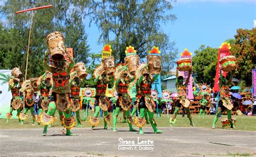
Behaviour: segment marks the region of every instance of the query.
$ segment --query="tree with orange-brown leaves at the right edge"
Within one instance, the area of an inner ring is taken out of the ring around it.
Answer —
[[[252,85],[252,69],[256,64],[256,28],[252,30],[238,29],[231,44],[231,55],[237,58],[237,72],[235,77],[244,80],[248,86]]]

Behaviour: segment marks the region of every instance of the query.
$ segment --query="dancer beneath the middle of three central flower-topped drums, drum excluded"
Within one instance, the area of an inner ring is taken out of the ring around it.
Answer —
[[[132,128],[132,117],[130,116],[130,108],[132,106],[131,97],[128,95],[128,88],[130,83],[130,73],[128,68],[124,64],[120,64],[116,67],[116,72],[114,73],[114,79],[116,84],[116,90],[118,93],[118,100],[116,103],[116,110],[113,116],[113,132],[117,132],[116,124],[117,117],[120,112],[120,107],[123,109],[126,117],[130,119],[127,120],[129,124],[130,131],[136,131]]]

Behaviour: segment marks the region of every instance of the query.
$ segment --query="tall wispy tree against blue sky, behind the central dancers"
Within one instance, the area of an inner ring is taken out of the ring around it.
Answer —
[[[174,42],[161,32],[160,26],[173,22],[171,1],[92,1],[91,19],[101,31],[99,42],[111,44],[117,63],[123,62],[126,46],[132,45],[140,58],[145,58],[153,46],[159,46],[163,56],[163,72],[173,68],[177,54]],[[145,60],[144,60],[145,61]]]

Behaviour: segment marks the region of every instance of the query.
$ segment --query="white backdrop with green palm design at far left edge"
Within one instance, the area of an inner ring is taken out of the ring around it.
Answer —
[[[10,75],[11,70],[1,70],[0,73],[4,75]],[[9,84],[8,82],[2,84],[2,80],[0,80],[0,118],[6,118],[5,114],[10,110],[10,103],[11,103],[11,91],[8,91]],[[12,112],[12,118],[17,118],[17,111]]]

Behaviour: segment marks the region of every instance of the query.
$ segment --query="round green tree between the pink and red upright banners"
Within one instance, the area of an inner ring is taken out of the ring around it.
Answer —
[[[214,85],[214,77],[218,60],[218,48],[201,45],[192,58],[193,73],[196,82]]]

